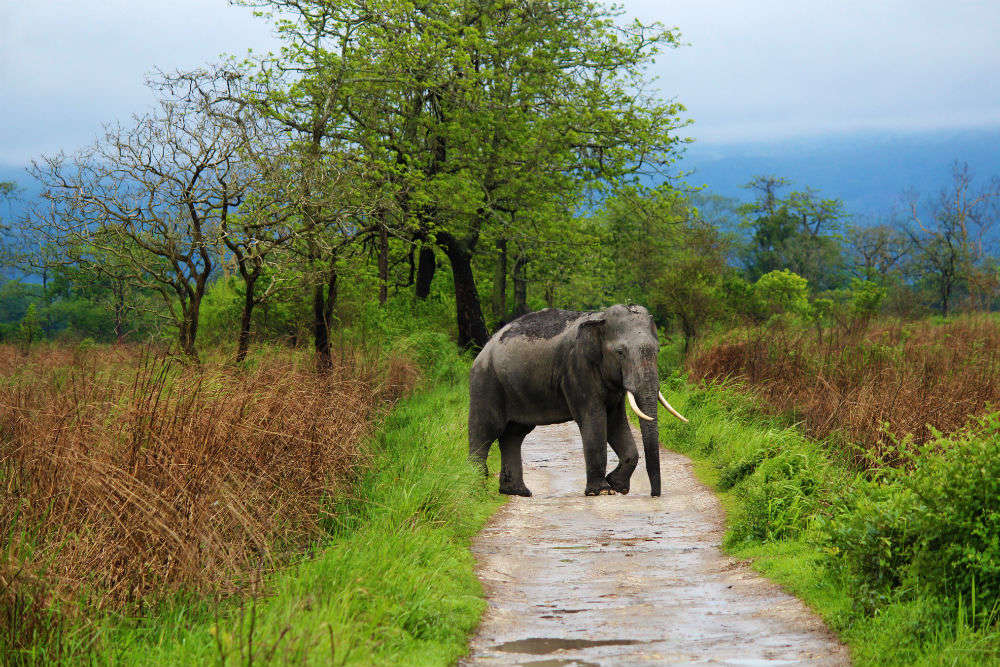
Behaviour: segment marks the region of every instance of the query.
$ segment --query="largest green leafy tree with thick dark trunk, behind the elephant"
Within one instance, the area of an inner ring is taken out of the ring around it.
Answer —
[[[619,27],[586,0],[261,4],[292,17],[290,60],[321,64],[296,86],[345,72],[323,88],[336,135],[365,155],[387,221],[448,258],[462,346],[488,336],[472,267],[492,229],[672,160],[682,108],[636,92],[676,44],[658,25]]]

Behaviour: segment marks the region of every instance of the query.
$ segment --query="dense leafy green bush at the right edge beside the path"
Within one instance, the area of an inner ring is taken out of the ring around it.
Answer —
[[[988,615],[1000,602],[1000,416],[939,437],[913,461],[838,503],[830,552],[872,602],[926,593]]]

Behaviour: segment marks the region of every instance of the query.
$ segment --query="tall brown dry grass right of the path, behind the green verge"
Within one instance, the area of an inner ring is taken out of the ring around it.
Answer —
[[[693,379],[745,383],[815,437],[843,434],[861,445],[859,465],[902,465],[913,448],[900,439],[919,445],[1000,406],[1000,321],[875,322],[822,337],[744,330],[696,350],[687,367]]]

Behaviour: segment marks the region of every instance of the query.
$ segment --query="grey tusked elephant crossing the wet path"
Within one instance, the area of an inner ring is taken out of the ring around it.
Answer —
[[[575,421],[583,438],[588,496],[628,493],[639,453],[625,414],[640,418],[646,473],[660,495],[656,324],[638,305],[600,311],[546,308],[511,321],[476,356],[469,371],[469,458],[486,469],[500,443],[500,493],[530,496],[521,444],[535,426]],[[618,466],[607,472],[607,444]]]

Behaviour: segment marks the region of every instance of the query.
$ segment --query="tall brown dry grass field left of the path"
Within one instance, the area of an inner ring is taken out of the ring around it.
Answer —
[[[319,376],[291,352],[240,370],[0,346],[5,643],[37,643],[57,607],[254,586],[320,534],[373,420],[415,380],[406,359],[353,353]]]

